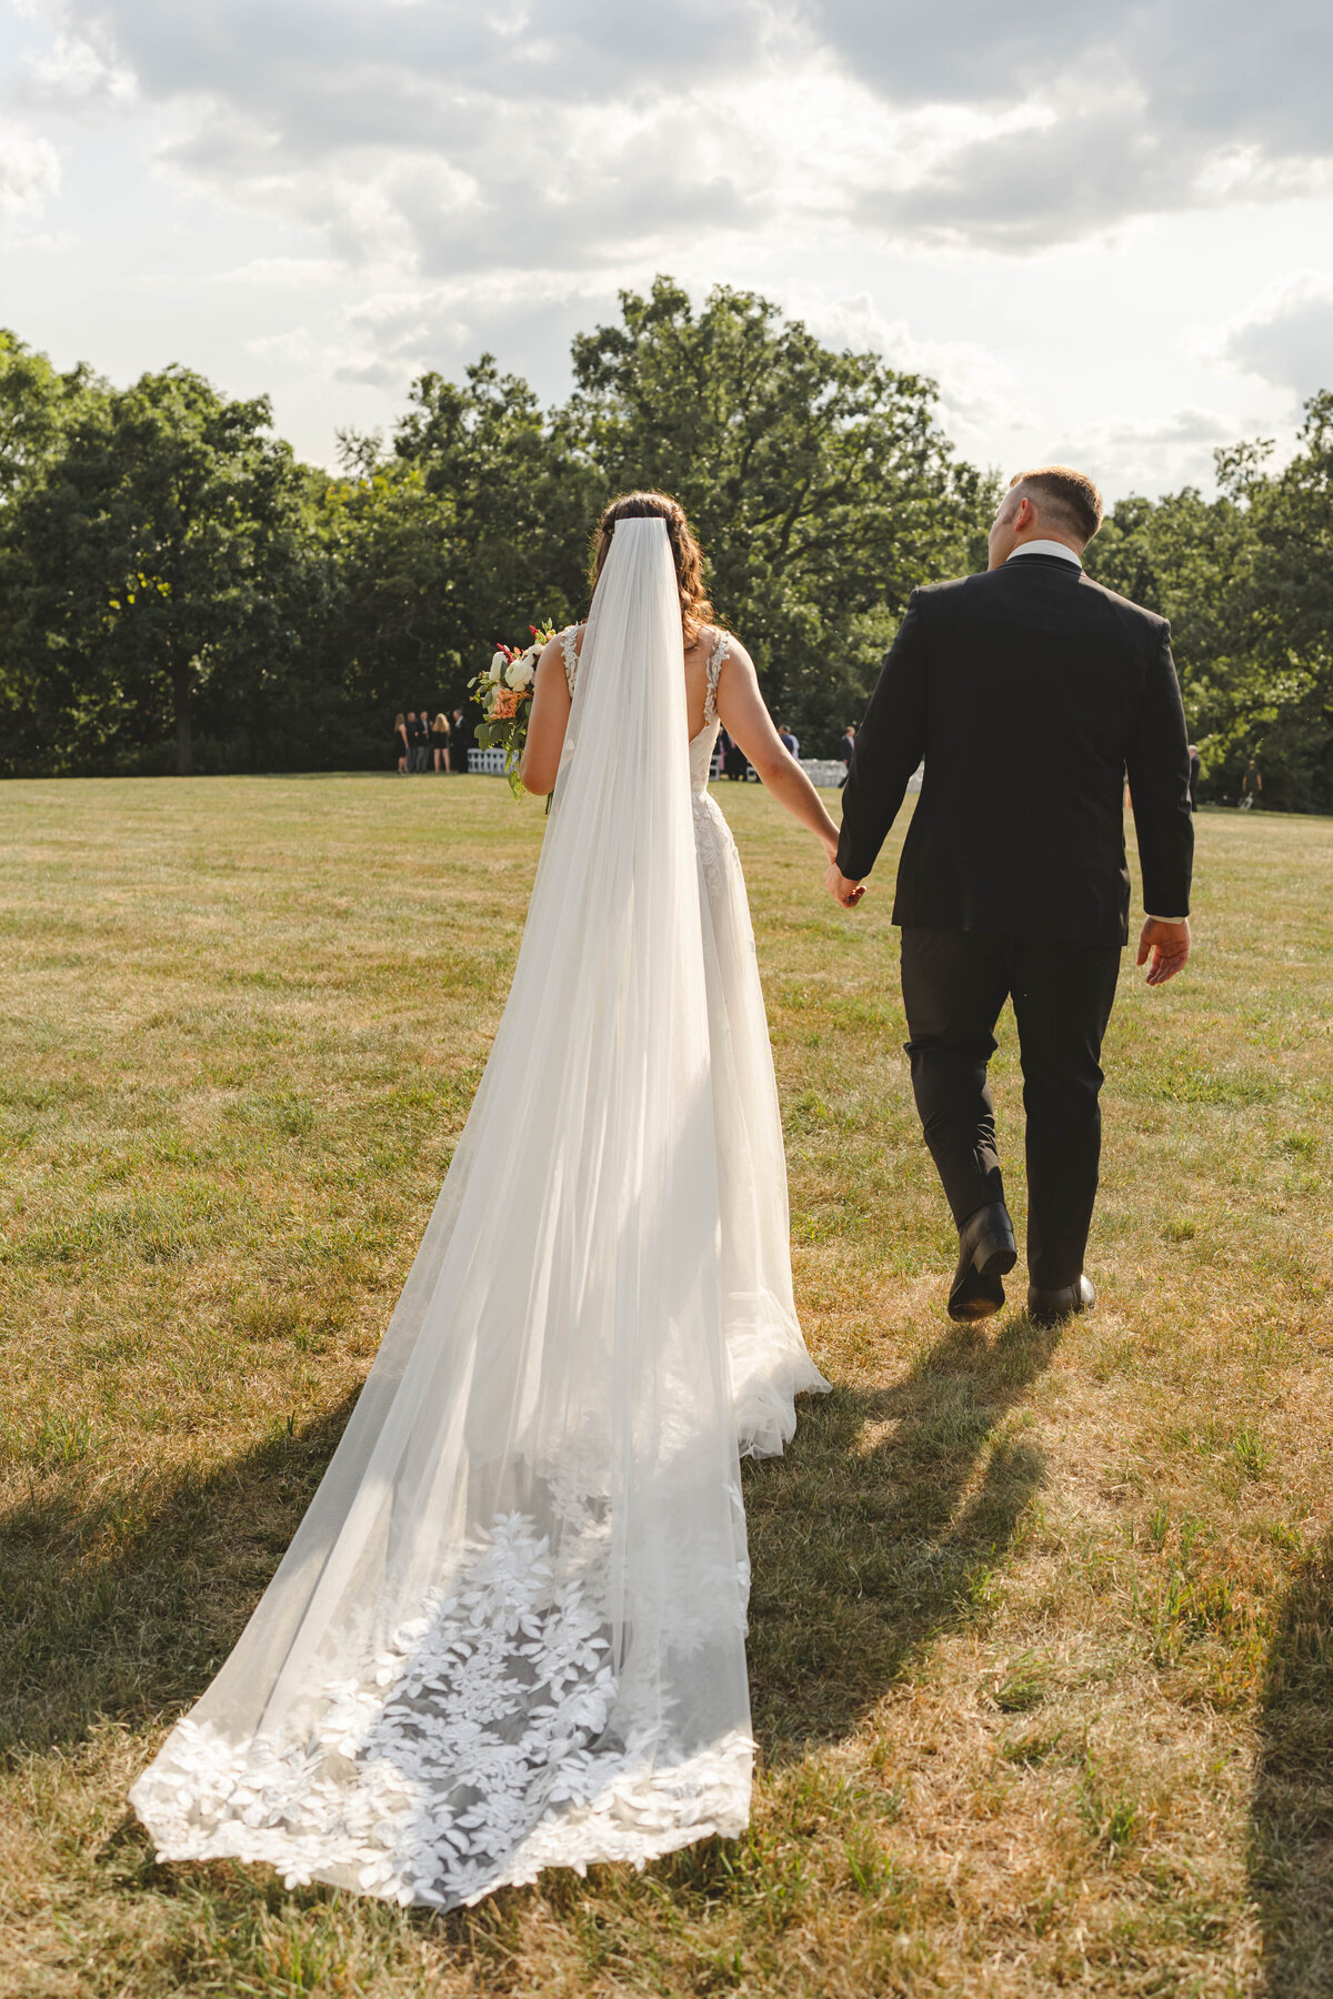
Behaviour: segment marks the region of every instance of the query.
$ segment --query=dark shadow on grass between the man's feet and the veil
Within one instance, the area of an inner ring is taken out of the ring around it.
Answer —
[[[995,1337],[951,1327],[893,1387],[805,1399],[787,1455],[749,1467],[749,1677],[769,1757],[843,1735],[979,1601],[1045,1479],[1033,1443],[995,1431],[1057,1343],[1027,1317]]]

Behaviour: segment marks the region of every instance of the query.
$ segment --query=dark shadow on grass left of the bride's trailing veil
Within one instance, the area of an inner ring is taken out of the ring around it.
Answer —
[[[0,1517],[0,1755],[204,1691],[268,1585],[356,1397],[212,1473],[34,1485]]]

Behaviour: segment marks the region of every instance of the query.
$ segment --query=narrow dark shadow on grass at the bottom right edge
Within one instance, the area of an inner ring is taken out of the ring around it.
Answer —
[[[1279,1611],[1249,1841],[1269,1999],[1333,1993],[1333,1535]]]

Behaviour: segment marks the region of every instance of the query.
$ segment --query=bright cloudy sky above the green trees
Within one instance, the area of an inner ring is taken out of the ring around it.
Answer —
[[[1329,0],[0,0],[0,324],[296,448],[753,286],[1107,492],[1333,386]]]

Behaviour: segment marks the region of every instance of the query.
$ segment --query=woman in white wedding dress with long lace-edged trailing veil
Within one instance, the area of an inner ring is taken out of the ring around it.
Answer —
[[[160,1859],[438,1909],[749,1817],[739,1455],[827,1383],[791,1299],[719,724],[831,856],[681,508],[608,508],[538,676],[510,1001],[356,1411],[130,1797]]]

